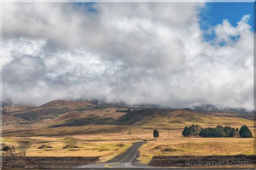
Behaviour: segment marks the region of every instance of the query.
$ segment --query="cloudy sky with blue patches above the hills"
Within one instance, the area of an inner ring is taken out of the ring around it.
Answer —
[[[253,3],[4,3],[3,101],[253,109]]]

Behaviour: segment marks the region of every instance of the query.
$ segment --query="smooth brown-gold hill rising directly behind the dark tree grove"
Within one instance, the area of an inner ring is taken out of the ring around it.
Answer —
[[[203,127],[216,125],[232,125],[234,127],[241,127],[247,125],[253,127],[253,121],[241,118],[230,117],[216,117],[201,115],[191,109],[181,110],[144,110],[133,111],[121,116],[116,122],[125,125],[140,125],[145,127],[158,127],[169,129],[180,129],[186,125],[198,124]]]

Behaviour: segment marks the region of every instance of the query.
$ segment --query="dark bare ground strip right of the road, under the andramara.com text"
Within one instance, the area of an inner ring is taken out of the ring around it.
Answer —
[[[236,156],[153,156],[152,167],[208,167],[208,166],[247,166],[256,163],[254,155]]]

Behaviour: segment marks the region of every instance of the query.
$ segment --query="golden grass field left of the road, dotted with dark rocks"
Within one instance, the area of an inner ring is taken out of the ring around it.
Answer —
[[[139,140],[111,140],[99,137],[90,138],[76,137],[11,137],[3,138],[3,143],[14,145],[16,152],[25,151],[26,156],[100,156],[99,161],[107,161],[122,154],[134,142]],[[46,144],[51,148],[39,149]],[[67,144],[77,148],[63,149]]]

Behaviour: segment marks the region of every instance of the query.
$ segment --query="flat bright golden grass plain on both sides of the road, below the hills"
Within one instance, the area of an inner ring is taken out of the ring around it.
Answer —
[[[109,125],[110,126],[110,125]],[[94,130],[98,126],[91,126]],[[255,138],[185,138],[180,130],[159,129],[160,136],[153,138],[151,127],[116,126],[113,133],[98,133],[73,136],[31,136],[4,137],[3,143],[15,145],[18,151],[25,151],[26,156],[100,156],[100,162],[112,159],[123,153],[132,143],[148,140],[140,147],[142,163],[148,163],[152,156],[207,156],[207,155],[253,155]],[[251,129],[253,130],[253,129]],[[38,149],[42,144],[52,148]],[[63,149],[65,145],[79,148]],[[124,144],[124,147],[118,146]],[[164,148],[175,151],[163,152]]]

